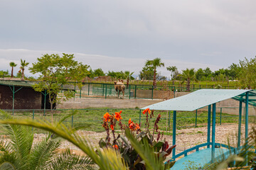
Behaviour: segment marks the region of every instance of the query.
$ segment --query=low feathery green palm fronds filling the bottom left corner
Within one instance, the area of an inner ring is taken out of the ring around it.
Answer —
[[[92,164],[88,157],[72,154],[70,149],[58,152],[60,140],[52,140],[48,133],[33,144],[33,131],[21,125],[5,125],[10,140],[0,140],[0,169],[82,169]]]

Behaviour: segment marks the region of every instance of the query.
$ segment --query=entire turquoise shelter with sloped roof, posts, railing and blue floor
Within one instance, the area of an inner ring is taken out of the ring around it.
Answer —
[[[241,120],[242,120],[242,103],[245,103],[245,140],[248,137],[248,105],[256,106],[256,91],[253,90],[230,90],[230,89],[201,89],[194,91],[191,94],[180,96],[178,98],[171,98],[167,101],[155,103],[150,106],[146,106],[142,109],[150,108],[151,110],[161,111],[174,111],[173,117],[173,145],[176,145],[176,111],[195,111],[199,108],[208,106],[208,127],[207,127],[207,142],[202,145],[197,145],[190,149],[176,154],[176,149],[173,149],[172,159],[174,161],[178,157],[182,157],[176,161],[176,164],[171,169],[184,169],[189,164],[197,164],[204,166],[215,161],[220,154],[227,155],[229,149],[227,145],[215,143],[215,118],[216,118],[216,103],[224,101],[228,98],[233,98],[240,101],[239,108],[239,121],[238,121],[238,147],[232,148],[235,153],[239,152],[241,141]],[[212,120],[212,121],[211,121]],[[211,125],[210,125],[211,124]],[[211,130],[210,130],[211,126]],[[211,141],[210,141],[211,133]],[[246,141],[245,141],[246,142]],[[202,149],[201,147],[206,147]],[[217,148],[215,148],[217,147]],[[201,149],[200,149],[201,148]],[[230,147],[229,147],[230,148]],[[188,155],[188,152],[192,152]]]

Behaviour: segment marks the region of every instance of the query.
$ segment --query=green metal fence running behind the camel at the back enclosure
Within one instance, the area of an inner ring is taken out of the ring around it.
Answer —
[[[74,83],[75,84],[75,83]],[[74,98],[98,97],[98,98],[115,98],[117,91],[114,89],[114,84],[97,84],[83,83],[82,88],[73,84],[63,86],[63,90],[70,89],[75,91]],[[191,84],[190,91],[198,89],[235,89],[235,86],[214,86]],[[63,92],[60,91],[60,94]],[[175,94],[178,91],[188,91],[186,85],[165,85],[165,86],[150,86],[150,85],[125,85],[124,98],[169,98],[170,94]],[[122,92],[119,97],[122,97]]]

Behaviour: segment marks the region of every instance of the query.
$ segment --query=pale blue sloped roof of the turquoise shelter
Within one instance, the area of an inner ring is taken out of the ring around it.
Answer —
[[[195,111],[196,109],[209,106],[219,101],[224,101],[228,98],[233,98],[239,101],[245,101],[245,93],[250,91],[251,96],[255,97],[256,94],[252,90],[235,90],[235,89],[201,89],[194,91],[190,94],[180,96],[177,98],[171,98],[167,101],[162,101],[142,109],[149,108],[151,110],[162,111]],[[254,105],[254,100],[251,100]]]

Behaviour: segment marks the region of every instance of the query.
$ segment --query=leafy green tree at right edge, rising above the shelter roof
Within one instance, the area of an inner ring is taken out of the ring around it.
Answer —
[[[240,60],[240,86],[242,89],[256,89],[256,57],[248,60]]]

